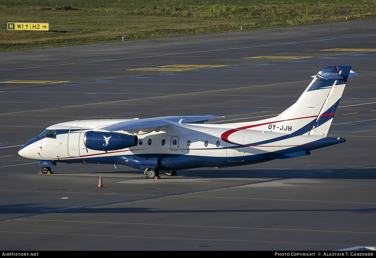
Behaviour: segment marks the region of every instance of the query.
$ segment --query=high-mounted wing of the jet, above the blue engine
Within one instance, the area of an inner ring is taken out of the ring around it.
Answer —
[[[141,128],[151,128],[170,125],[171,122],[175,123],[203,123],[209,119],[223,118],[216,115],[202,115],[202,116],[185,116],[185,117],[153,117],[153,118],[143,118],[134,119],[131,121],[124,121],[109,126],[95,128],[94,131],[97,132],[116,132],[116,131],[127,131],[132,129]]]

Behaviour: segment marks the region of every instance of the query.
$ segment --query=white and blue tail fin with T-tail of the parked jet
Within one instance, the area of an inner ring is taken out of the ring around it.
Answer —
[[[357,75],[351,66],[321,69],[296,103],[274,118],[276,124],[290,134],[326,136],[347,79]]]

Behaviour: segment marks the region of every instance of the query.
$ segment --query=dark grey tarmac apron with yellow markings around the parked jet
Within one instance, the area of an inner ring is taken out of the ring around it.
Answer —
[[[15,32],[17,33],[17,32]],[[0,250],[339,250],[376,243],[376,20],[0,53]],[[224,115],[291,106],[352,65],[312,155],[141,180],[113,165],[18,156],[71,120]],[[102,175],[104,188],[97,188]]]

